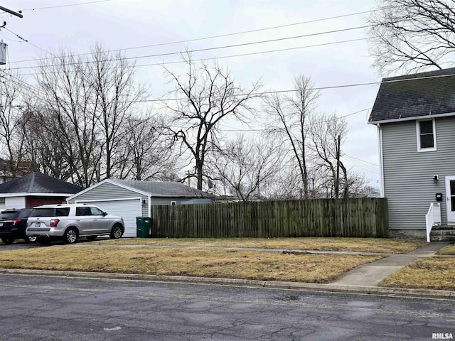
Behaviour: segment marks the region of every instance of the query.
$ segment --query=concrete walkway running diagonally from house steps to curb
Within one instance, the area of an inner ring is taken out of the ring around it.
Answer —
[[[431,242],[407,254],[392,254],[370,264],[359,266],[348,271],[332,284],[341,286],[378,286],[385,278],[398,271],[403,266],[417,259],[434,256],[437,251],[447,247],[451,242]]]

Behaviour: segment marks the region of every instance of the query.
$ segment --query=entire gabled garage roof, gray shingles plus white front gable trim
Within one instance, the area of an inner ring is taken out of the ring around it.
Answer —
[[[72,200],[83,193],[97,188],[103,183],[110,183],[117,185],[127,190],[132,190],[143,195],[150,197],[188,197],[188,198],[210,198],[210,195],[203,190],[196,190],[196,188],[183,185],[183,183],[175,183],[168,181],[148,181],[148,180],[118,180],[118,179],[106,179],[102,180],[96,185],[92,185],[90,188],[82,190],[82,192],[72,195],[68,200]]]

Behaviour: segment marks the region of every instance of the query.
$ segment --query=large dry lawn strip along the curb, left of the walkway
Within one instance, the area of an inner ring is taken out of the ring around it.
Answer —
[[[350,269],[381,258],[223,249],[55,246],[0,252],[0,267],[328,283]]]

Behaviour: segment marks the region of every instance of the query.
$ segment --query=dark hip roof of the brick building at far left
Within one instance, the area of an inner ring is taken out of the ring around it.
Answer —
[[[43,173],[30,173],[0,184],[0,193],[65,193],[73,194],[83,187],[67,183]]]

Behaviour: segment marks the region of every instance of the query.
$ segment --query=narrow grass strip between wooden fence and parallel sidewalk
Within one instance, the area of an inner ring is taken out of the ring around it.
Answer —
[[[425,242],[387,238],[122,238],[97,242],[100,245],[171,245],[191,247],[255,247],[321,251],[359,251],[405,254]]]

